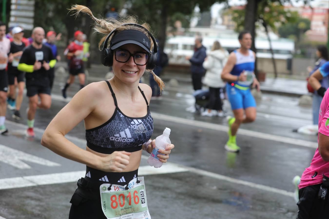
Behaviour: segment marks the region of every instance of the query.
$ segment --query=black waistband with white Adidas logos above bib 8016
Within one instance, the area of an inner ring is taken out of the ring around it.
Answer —
[[[130,172],[104,172],[86,166],[86,176],[84,180],[88,181],[92,187],[99,188],[103,183],[125,186],[136,177],[138,177],[138,169]]]

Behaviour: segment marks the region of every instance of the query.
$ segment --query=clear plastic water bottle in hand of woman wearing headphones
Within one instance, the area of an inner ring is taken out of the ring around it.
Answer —
[[[157,155],[160,154],[158,150],[165,150],[168,144],[171,144],[169,135],[170,128],[165,128],[163,134],[155,139],[155,148],[153,148],[151,155],[147,159],[147,163],[150,166],[154,166],[155,168],[162,166],[162,162],[159,161],[159,158],[157,157]]]

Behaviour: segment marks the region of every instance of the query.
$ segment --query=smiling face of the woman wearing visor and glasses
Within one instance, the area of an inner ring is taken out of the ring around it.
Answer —
[[[128,50],[131,54],[135,54],[136,52],[146,52],[140,46],[135,44],[125,44],[120,46],[120,48]],[[112,67],[114,76],[125,83],[134,83],[139,81],[139,78],[142,77],[146,69],[146,65],[136,65],[132,56],[127,62],[123,63],[116,61],[115,56],[113,55]]]

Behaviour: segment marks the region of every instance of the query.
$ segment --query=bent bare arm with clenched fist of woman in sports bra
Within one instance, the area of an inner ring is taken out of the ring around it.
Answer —
[[[129,164],[129,155],[131,153],[115,151],[106,157],[101,157],[79,148],[64,137],[94,111],[98,101],[102,99],[102,93],[99,91],[101,90],[99,89],[100,83],[87,85],[72,98],[50,122],[43,133],[41,144],[65,158],[86,164],[92,168],[107,172],[122,172]]]

